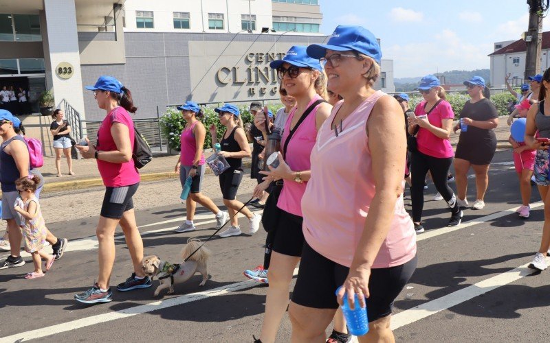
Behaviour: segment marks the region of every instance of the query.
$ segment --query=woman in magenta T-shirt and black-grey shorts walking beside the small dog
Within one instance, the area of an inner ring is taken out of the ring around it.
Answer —
[[[151,287],[151,280],[143,273],[143,241],[135,223],[132,196],[140,185],[140,174],[132,159],[135,130],[129,113],[135,113],[130,90],[111,76],[101,76],[94,86],[98,107],[106,115],[98,130],[97,145],[76,145],[84,158],[96,158],[105,186],[96,236],[98,237],[99,276],[87,291],[75,294],[80,303],[109,303],[112,298],[109,281],[115,262],[115,229],[120,224],[133,263],[133,273],[120,283],[120,292]]]

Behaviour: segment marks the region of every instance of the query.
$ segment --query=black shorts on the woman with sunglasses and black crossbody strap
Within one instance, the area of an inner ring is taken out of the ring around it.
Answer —
[[[273,251],[279,254],[300,257],[304,246],[303,217],[281,210],[275,230]]]

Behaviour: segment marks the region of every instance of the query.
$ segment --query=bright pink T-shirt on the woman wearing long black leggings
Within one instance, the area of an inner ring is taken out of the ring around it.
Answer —
[[[426,109],[424,106],[426,102],[421,102],[415,108],[415,115],[417,117],[426,115]],[[430,110],[430,108],[427,108]],[[451,104],[443,100],[440,102],[428,115],[428,121],[433,126],[441,128],[441,121],[443,119],[454,119],[454,112],[452,112]],[[448,158],[454,156],[452,151],[451,142],[448,139],[441,139],[435,134],[432,134],[428,129],[420,128],[417,134],[418,151],[422,154],[437,158]]]

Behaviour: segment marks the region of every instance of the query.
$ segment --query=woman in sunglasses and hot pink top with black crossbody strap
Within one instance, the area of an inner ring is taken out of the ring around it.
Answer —
[[[306,47],[291,47],[282,60],[274,60],[270,67],[277,70],[278,78],[288,95],[296,99],[281,139],[279,165],[254,189],[261,196],[272,181],[283,181],[276,204],[278,220],[274,224],[274,241],[270,268],[267,273],[270,287],[265,300],[265,316],[260,335],[261,342],[274,342],[288,304],[289,285],[294,268],[300,261],[304,242],[302,232],[302,196],[311,177],[309,156],[314,150],[317,132],[329,116],[331,105],[319,95],[326,94],[326,86],[319,60],[307,56]],[[267,158],[268,156],[266,156]],[[279,185],[278,187],[281,187]],[[270,232],[271,233],[271,232]]]

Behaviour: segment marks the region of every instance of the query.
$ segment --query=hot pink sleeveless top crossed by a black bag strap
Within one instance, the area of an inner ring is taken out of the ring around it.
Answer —
[[[316,95],[311,102],[307,104],[306,108],[309,108],[311,104],[316,102],[318,99],[321,99],[319,95]],[[290,139],[287,146],[287,156],[285,156],[285,162],[289,165],[290,169],[294,171],[309,170],[311,163],[309,162],[309,155],[311,150],[313,150],[315,145],[315,139],[317,137],[317,126],[315,121],[315,115],[317,113],[319,106],[314,108],[314,110],[307,115],[307,118],[300,124],[294,135]],[[283,131],[283,137],[281,138],[281,152],[283,151],[283,146],[287,141],[288,134],[290,133],[290,123],[292,123],[292,118],[294,118],[294,113],[296,113],[296,107],[292,108],[292,111],[289,113],[287,122],[285,123],[285,130]],[[281,191],[281,196],[277,202],[277,207],[293,215],[302,216],[302,196],[305,192],[305,187],[307,182],[294,182],[292,180],[285,180],[283,185],[283,190]]]

